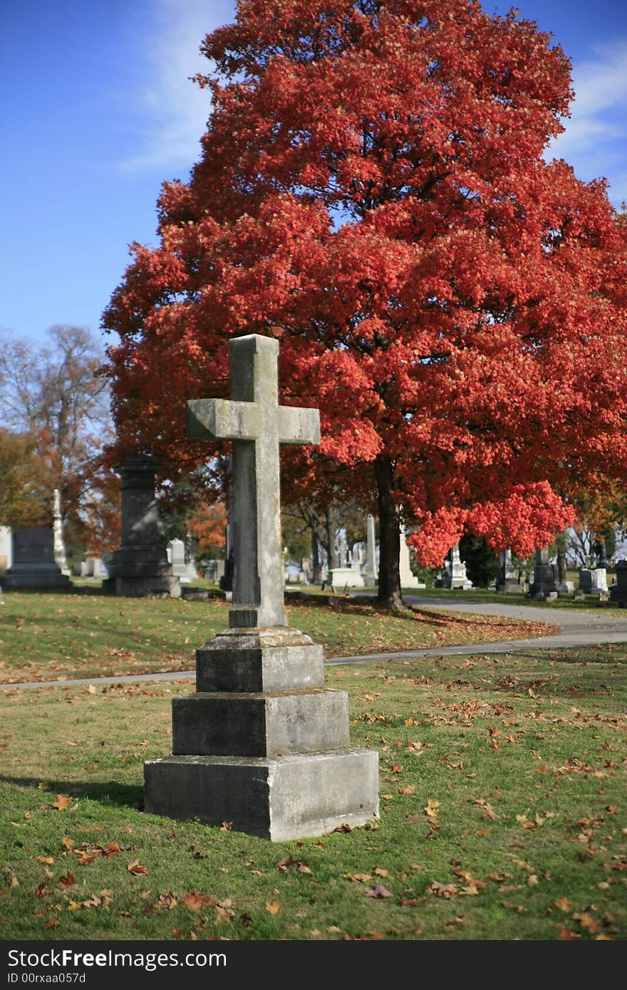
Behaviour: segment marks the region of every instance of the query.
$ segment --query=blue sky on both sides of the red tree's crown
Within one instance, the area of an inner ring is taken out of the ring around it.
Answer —
[[[490,13],[509,3],[485,0]],[[625,0],[518,0],[574,64],[555,153],[627,200]],[[235,0],[2,0],[0,328],[99,333],[132,241],[155,245],[164,179],[186,179],[209,116],[203,36]]]

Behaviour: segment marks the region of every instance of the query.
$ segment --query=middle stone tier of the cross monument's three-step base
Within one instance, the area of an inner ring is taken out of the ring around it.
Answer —
[[[278,756],[350,745],[346,691],[190,694],[172,701],[172,753]]]

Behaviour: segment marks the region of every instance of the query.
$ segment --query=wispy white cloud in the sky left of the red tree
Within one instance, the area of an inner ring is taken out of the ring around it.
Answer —
[[[200,155],[198,143],[211,111],[209,90],[189,76],[209,71],[200,43],[208,32],[233,20],[234,5],[228,0],[147,0],[141,6],[133,11],[143,24],[137,37],[143,39],[144,79],[133,108],[139,121],[137,150],[119,168],[127,173],[188,170]]]

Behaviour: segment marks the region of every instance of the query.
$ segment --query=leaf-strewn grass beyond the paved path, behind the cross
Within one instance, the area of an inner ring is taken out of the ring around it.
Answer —
[[[198,602],[115,598],[95,590],[13,591],[2,601],[4,682],[190,670],[196,648],[229,625],[229,606],[219,598]],[[341,596],[288,601],[287,615],[291,626],[324,645],[327,657],[526,639],[553,628],[432,608],[395,615]]]

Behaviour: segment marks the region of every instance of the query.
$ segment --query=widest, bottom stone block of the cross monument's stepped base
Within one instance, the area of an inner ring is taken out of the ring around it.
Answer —
[[[165,756],[144,764],[145,811],[231,823],[271,841],[321,836],[378,814],[378,754],[370,749],[272,757]]]

